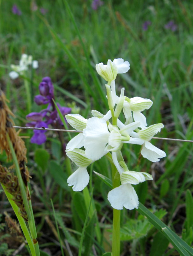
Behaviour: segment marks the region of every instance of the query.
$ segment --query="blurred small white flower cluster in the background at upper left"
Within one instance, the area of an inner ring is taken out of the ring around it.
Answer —
[[[32,55],[27,55],[23,53],[21,55],[19,65],[11,64],[12,71],[9,73],[9,76],[11,77],[11,79],[16,79],[19,75],[23,75],[23,73],[28,70],[29,65],[31,65],[32,68],[38,68],[38,61],[33,60]]]

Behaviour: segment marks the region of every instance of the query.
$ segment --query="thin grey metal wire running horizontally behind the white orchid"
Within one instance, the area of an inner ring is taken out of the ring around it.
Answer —
[[[19,129],[30,129],[30,130],[45,130],[45,131],[55,131],[55,132],[82,132],[82,131],[76,131],[76,130],[65,130],[65,129],[52,129],[52,128],[44,128],[43,126],[38,127],[26,127],[26,126],[13,126],[14,128]],[[173,140],[173,141],[181,141],[181,142],[193,142],[193,140],[180,140],[180,139],[170,139],[170,138],[159,138],[159,137],[153,137],[152,139],[155,140]]]

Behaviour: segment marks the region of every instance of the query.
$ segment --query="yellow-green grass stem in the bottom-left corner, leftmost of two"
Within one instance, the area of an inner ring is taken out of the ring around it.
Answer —
[[[15,215],[16,217],[18,218],[18,221],[19,221],[19,224],[20,224],[20,227],[24,233],[24,236],[27,240],[27,244],[29,245],[29,249],[30,249],[30,252],[32,254],[32,256],[36,256],[38,254],[36,254],[35,252],[35,249],[34,249],[34,244],[33,244],[33,241],[32,241],[32,237],[29,233],[29,230],[26,226],[26,222],[25,220],[23,219],[23,217],[21,217],[19,215],[19,207],[17,206],[17,204],[12,200],[13,196],[6,190],[6,188],[4,187],[3,184],[1,184],[2,188],[4,189],[4,192],[5,192],[5,195],[7,196],[10,204],[11,204],[11,207],[13,208],[13,211],[15,212]]]

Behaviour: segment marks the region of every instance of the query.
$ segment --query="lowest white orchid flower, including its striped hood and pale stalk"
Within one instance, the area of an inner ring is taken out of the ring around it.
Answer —
[[[138,208],[138,196],[131,184],[136,185],[145,180],[152,180],[152,175],[146,172],[129,171],[120,150],[112,152],[112,159],[120,174],[121,185],[108,193],[111,206],[117,210],[123,209],[123,206],[128,210]]]

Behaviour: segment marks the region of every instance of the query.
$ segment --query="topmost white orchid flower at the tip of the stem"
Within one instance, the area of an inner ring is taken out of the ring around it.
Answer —
[[[129,62],[120,58],[113,61],[108,60],[107,65],[104,65],[102,62],[96,64],[98,74],[108,82],[115,80],[117,74],[126,73],[129,69]]]

